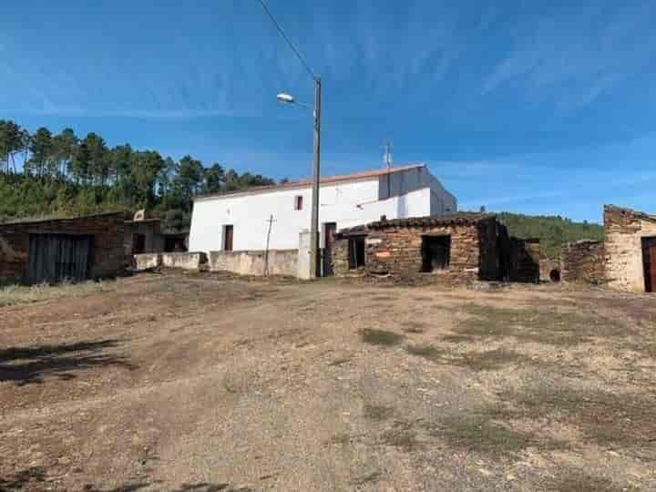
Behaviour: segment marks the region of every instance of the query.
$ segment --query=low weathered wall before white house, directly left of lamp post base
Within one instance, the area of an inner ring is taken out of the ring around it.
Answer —
[[[232,272],[261,276],[265,251],[210,251],[211,272]],[[269,251],[269,274],[295,277],[298,273],[298,250]]]

